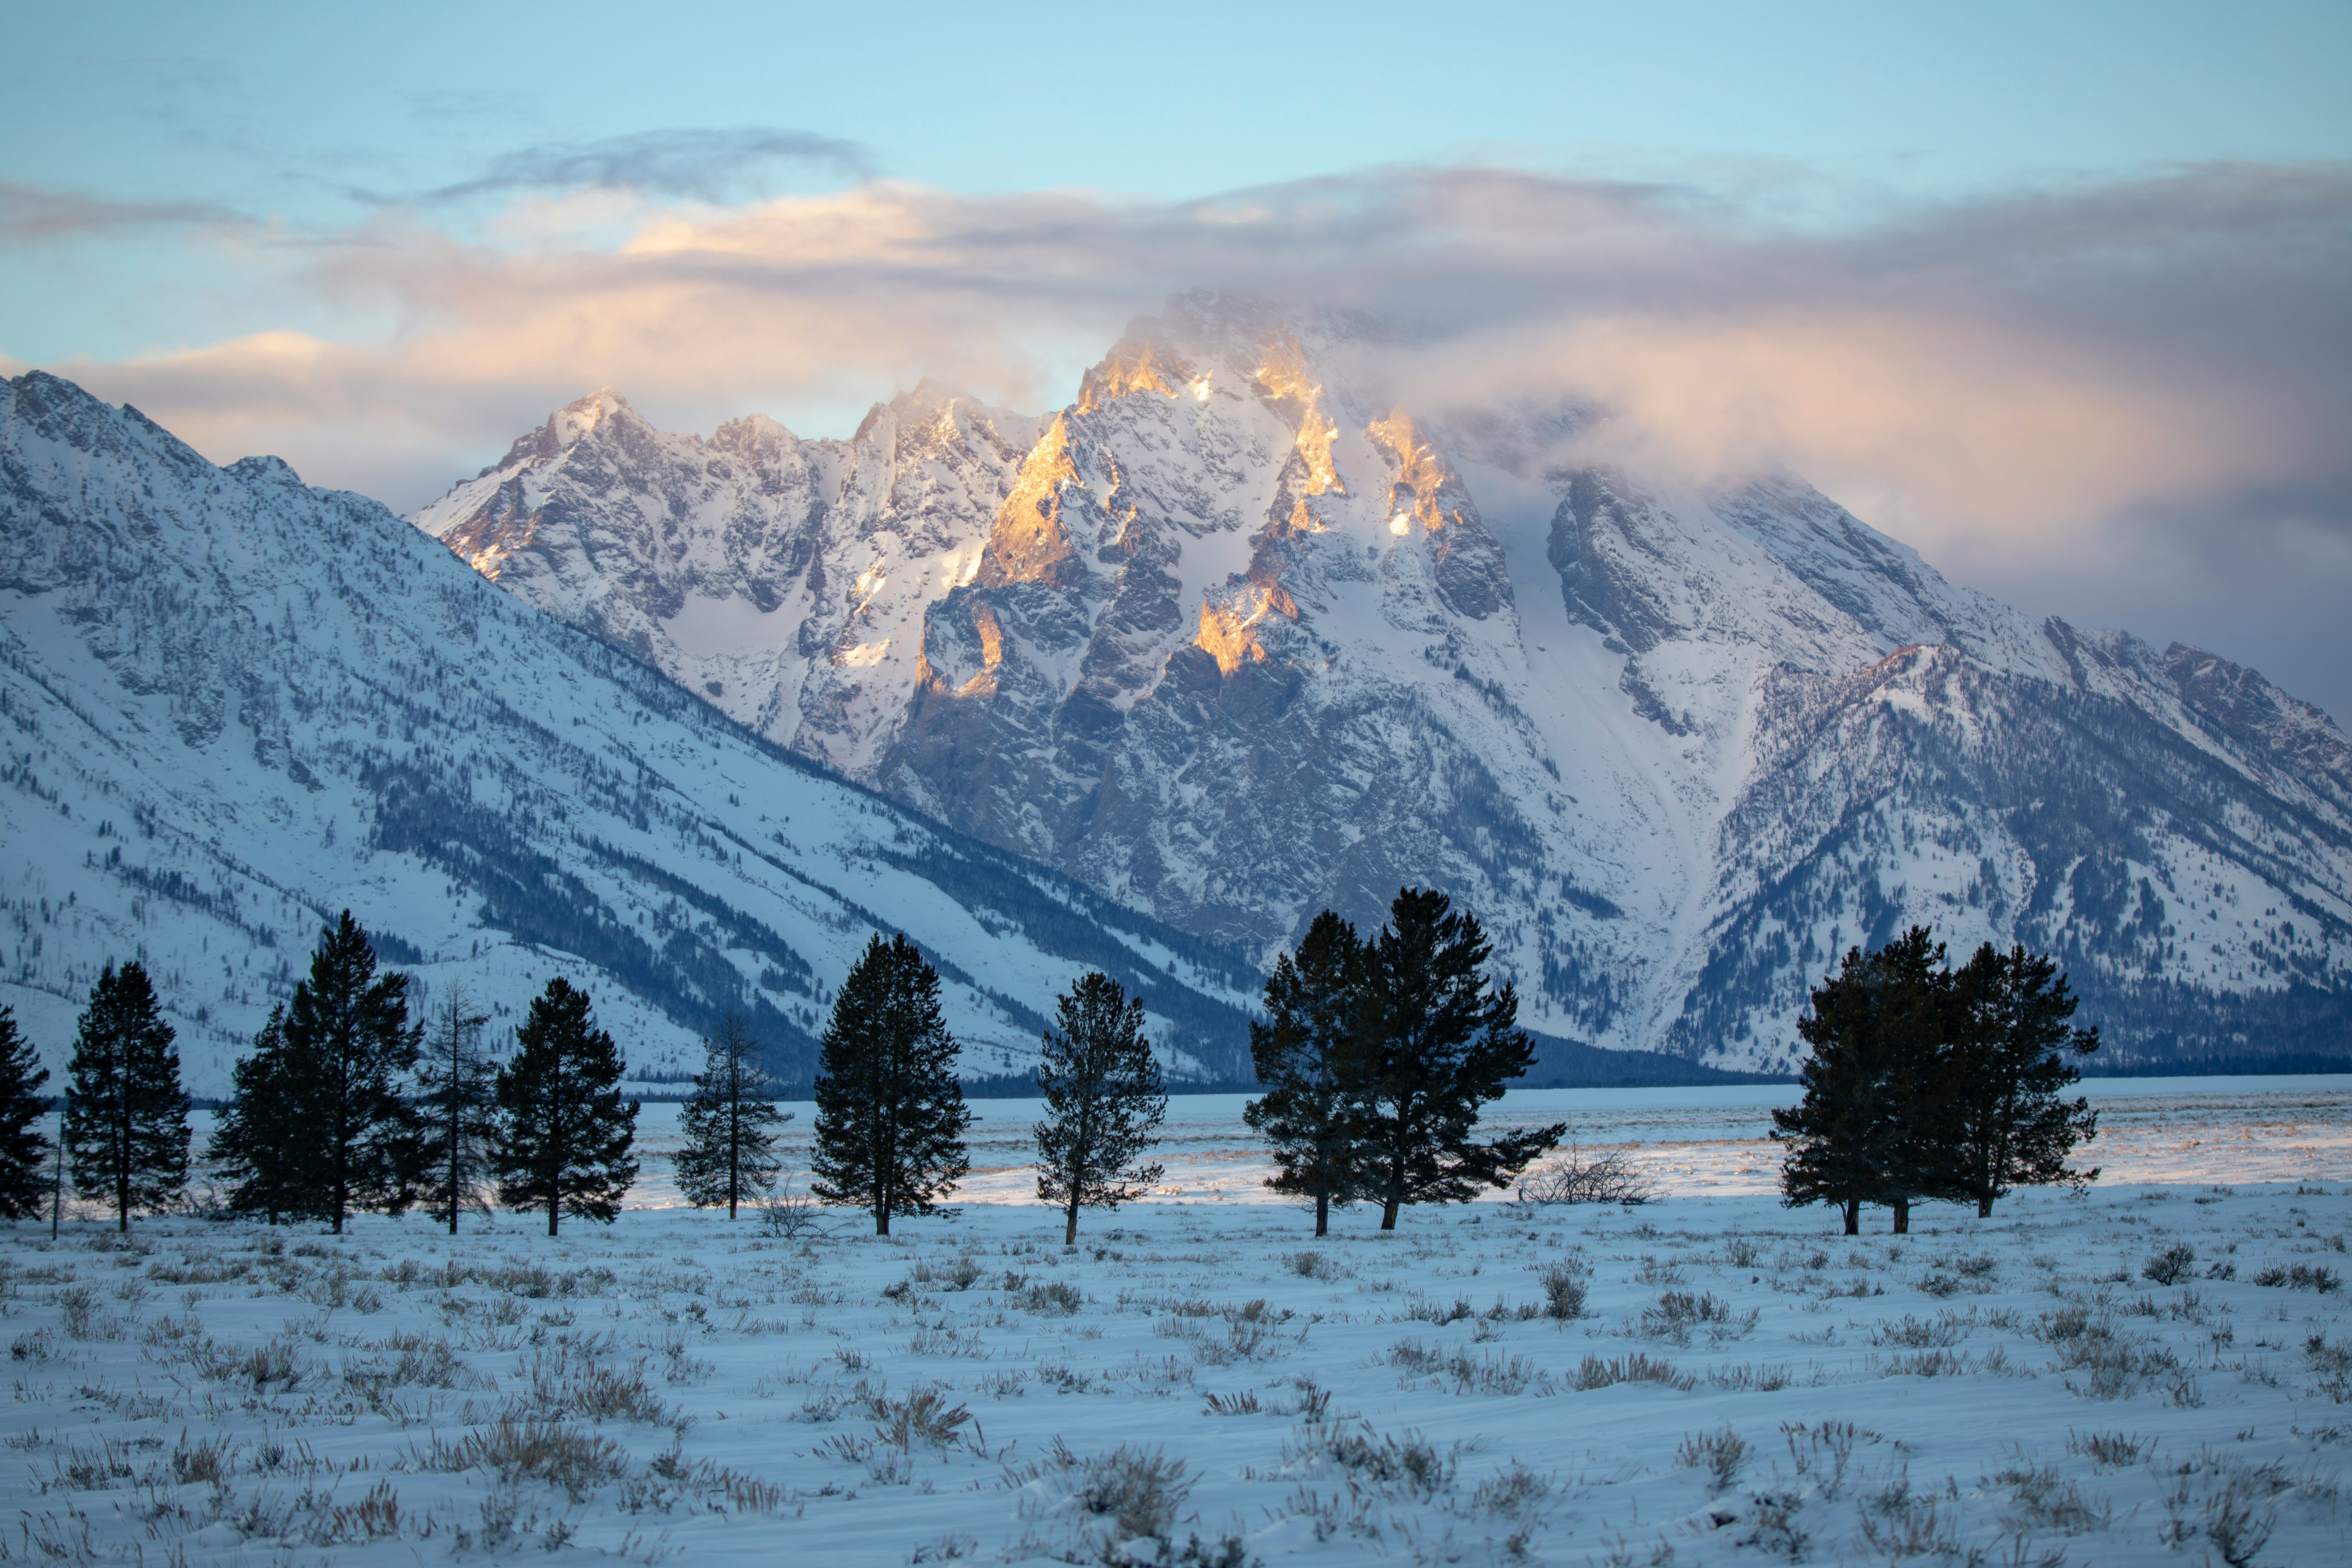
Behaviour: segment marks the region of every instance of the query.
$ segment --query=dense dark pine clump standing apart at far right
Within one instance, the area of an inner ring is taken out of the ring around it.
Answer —
[[[2067,1166],[2098,1135],[2089,1100],[2065,1098],[2070,1058],[2098,1051],[2074,1004],[2056,959],[2018,945],[1985,943],[1957,971],[1926,926],[1846,950],[1797,1020],[1804,1098],[1773,1112],[1783,1199],[1835,1204],[1851,1237],[1863,1204],[1907,1232],[1917,1201],[1985,1218],[2016,1187],[2096,1180]]]

